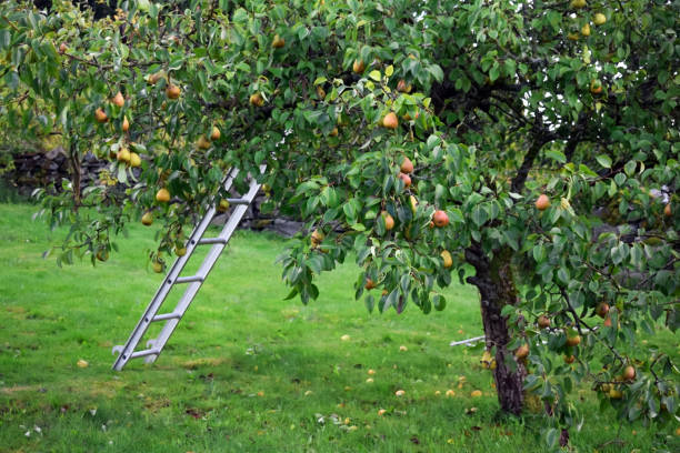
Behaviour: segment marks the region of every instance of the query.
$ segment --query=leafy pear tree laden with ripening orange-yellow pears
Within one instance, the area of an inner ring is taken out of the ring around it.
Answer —
[[[266,164],[264,209],[310,232],[280,260],[291,299],[317,299],[317,275],[349,256],[370,311],[443,310],[459,280],[479,290],[500,409],[540,400],[552,446],[582,423],[584,383],[628,420],[678,420],[677,351],[641,341],[678,328],[677,3],[0,12],[1,121],[59,135],[70,163],[38,193],[71,229],[60,262],[108,256],[144,221],[162,269],[227,198],[224,171]],[[107,165],[83,184],[92,154]]]

